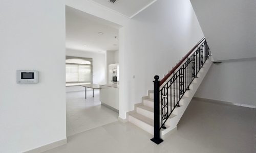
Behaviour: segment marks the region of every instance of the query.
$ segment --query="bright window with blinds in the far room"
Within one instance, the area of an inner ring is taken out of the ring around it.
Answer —
[[[92,59],[66,57],[66,85],[92,83]]]

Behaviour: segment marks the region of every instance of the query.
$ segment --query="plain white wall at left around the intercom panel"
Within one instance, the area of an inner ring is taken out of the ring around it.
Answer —
[[[65,3],[1,1],[0,152],[66,139]],[[16,70],[38,70],[38,84],[16,84]]]

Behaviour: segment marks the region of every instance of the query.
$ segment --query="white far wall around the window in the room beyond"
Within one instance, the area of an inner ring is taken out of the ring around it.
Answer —
[[[105,64],[105,54],[104,53],[94,53],[86,52],[82,50],[74,50],[66,48],[67,56],[74,57],[84,57],[93,59],[93,83],[95,84],[105,84],[106,83],[106,64]],[[83,87],[74,86],[66,87],[66,92],[70,91],[81,91],[84,90]]]

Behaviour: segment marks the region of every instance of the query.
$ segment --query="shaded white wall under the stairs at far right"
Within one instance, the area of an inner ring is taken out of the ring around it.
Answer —
[[[195,97],[256,106],[256,60],[212,64]]]

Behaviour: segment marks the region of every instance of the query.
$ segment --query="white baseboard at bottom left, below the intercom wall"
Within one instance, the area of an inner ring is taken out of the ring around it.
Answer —
[[[40,153],[40,152],[44,152],[44,151],[56,148],[58,146],[64,145],[66,143],[67,143],[67,138],[56,141],[56,142],[53,142],[53,143],[50,143],[50,144],[47,144],[47,145],[44,145],[44,146],[41,146],[41,147],[38,147],[38,148],[34,148],[32,150],[29,150],[29,151],[25,151],[24,153]]]

